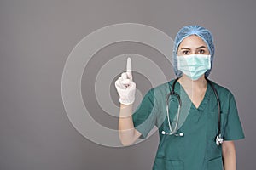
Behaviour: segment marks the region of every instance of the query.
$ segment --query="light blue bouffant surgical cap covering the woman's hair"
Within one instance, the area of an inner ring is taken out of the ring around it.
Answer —
[[[182,71],[177,70],[177,48],[178,48],[179,44],[183,41],[184,38],[189,37],[191,35],[196,35],[198,37],[201,37],[201,39],[204,42],[206,42],[207,47],[210,51],[211,69],[205,73],[205,77],[208,77],[212,70],[212,60],[213,60],[213,56],[214,56],[214,45],[213,45],[212,33],[202,26],[183,26],[183,28],[177,32],[177,36],[175,37],[174,44],[173,44],[173,51],[172,51],[172,63],[173,63],[174,72],[177,77],[182,76]]]

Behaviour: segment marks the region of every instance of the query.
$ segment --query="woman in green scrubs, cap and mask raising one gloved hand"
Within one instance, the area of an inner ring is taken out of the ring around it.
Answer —
[[[201,26],[184,26],[178,31],[173,46],[177,81],[150,89],[134,114],[136,84],[132,82],[131,71],[123,73],[115,82],[120,97],[122,144],[145,139],[154,126],[159,128],[160,144],[153,169],[220,170],[224,167],[236,170],[233,140],[243,139],[244,133],[233,94],[207,79],[213,56],[211,32]],[[177,96],[166,98],[174,82],[174,92],[181,99],[180,110]]]

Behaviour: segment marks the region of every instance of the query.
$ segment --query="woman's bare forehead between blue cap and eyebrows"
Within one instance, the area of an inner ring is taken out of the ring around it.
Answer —
[[[191,35],[183,39],[183,41],[179,44],[178,49],[186,47],[186,48],[197,48],[200,46],[207,47],[207,43],[196,35]]]

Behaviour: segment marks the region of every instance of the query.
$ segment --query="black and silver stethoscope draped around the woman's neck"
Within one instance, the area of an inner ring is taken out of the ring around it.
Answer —
[[[168,126],[169,126],[169,129],[170,129],[170,133],[166,133],[164,130],[162,131],[162,134],[166,134],[166,135],[175,135],[175,136],[179,136],[179,137],[183,137],[184,136],[184,133],[177,133],[177,124],[178,124],[178,120],[179,120],[179,116],[180,116],[180,109],[181,109],[181,106],[182,106],[182,101],[180,99],[180,96],[179,94],[177,94],[175,91],[174,91],[174,88],[175,88],[175,84],[178,80],[178,77],[174,80],[173,82],[173,85],[172,85],[172,91],[167,94],[166,96],[166,113],[167,113],[167,120],[168,120]],[[220,122],[220,102],[219,102],[219,99],[218,99],[218,94],[217,94],[217,91],[216,89],[213,87],[212,85],[212,82],[209,81],[207,78],[206,78],[207,82],[210,83],[212,89],[213,89],[213,92],[215,94],[215,97],[217,99],[217,103],[218,103],[218,135],[216,137],[216,144],[219,145],[219,144],[222,144],[224,139],[222,138],[222,135],[221,135],[221,122]],[[178,108],[177,108],[177,118],[176,118],[176,122],[175,122],[175,126],[174,128],[172,128],[171,126],[171,121],[170,121],[170,117],[169,117],[169,98],[174,95],[177,97],[177,100],[178,100]]]

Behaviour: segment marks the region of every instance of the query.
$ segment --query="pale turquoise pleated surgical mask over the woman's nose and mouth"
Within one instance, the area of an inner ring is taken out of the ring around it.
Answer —
[[[177,70],[182,71],[192,80],[199,79],[209,69],[211,69],[211,55],[191,54],[177,56]]]

